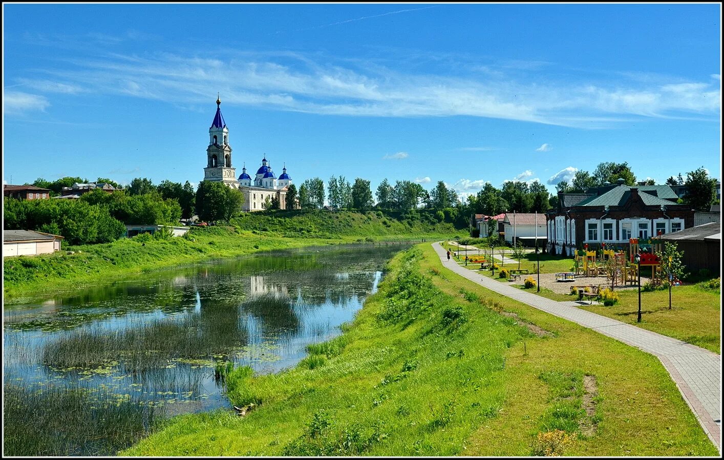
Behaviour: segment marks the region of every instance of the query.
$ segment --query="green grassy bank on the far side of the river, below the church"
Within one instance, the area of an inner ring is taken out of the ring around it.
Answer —
[[[203,259],[334,243],[419,241],[441,233],[449,237],[455,232],[451,224],[430,224],[420,214],[382,215],[380,218],[377,212],[321,211],[253,213],[233,219],[232,227],[193,227],[190,238],[159,240],[142,235],[113,243],[64,246],[63,251],[54,254],[12,257],[4,260],[4,302],[22,303],[49,293]],[[319,228],[326,231],[317,231]],[[75,254],[67,254],[68,251]]]

